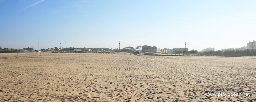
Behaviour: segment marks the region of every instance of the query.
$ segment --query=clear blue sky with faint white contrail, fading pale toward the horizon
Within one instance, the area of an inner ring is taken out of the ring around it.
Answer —
[[[0,0],[2,48],[239,48],[256,40],[255,0]]]

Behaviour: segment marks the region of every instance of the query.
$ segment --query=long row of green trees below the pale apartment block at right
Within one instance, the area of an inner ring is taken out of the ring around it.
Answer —
[[[245,49],[245,50],[218,50],[218,51],[204,51],[205,54],[245,54],[245,53],[256,53],[256,49]]]

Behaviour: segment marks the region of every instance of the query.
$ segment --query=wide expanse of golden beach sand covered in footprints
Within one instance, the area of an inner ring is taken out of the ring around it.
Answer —
[[[0,53],[0,79],[0,101],[256,101],[256,57]]]

